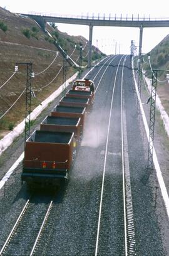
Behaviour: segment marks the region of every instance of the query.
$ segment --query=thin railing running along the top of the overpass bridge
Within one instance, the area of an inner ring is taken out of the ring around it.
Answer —
[[[137,17],[134,17],[133,15],[128,17],[127,15],[125,17],[122,16],[100,16],[98,15],[68,15],[68,14],[54,14],[54,13],[37,13],[37,12],[29,12],[25,13],[25,15],[33,15],[33,16],[46,16],[46,17],[51,17],[51,18],[62,18],[62,19],[95,19],[95,20],[106,20],[106,21],[169,21],[169,18],[151,18],[149,17],[140,17],[139,14]]]

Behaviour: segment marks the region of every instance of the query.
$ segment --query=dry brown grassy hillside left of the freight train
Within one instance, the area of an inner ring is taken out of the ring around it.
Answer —
[[[33,63],[35,78],[33,78],[32,87],[36,98],[32,100],[32,110],[63,82],[63,72],[61,70],[63,57],[61,53],[56,57],[58,48],[53,44],[54,40],[57,40],[59,45],[77,63],[79,61],[79,44],[81,43],[84,48],[83,65],[87,64],[88,41],[82,36],[69,36],[66,33],[62,33],[54,24],[51,25],[48,25],[47,29],[54,36],[54,39],[45,33],[33,19],[10,13],[0,7],[0,87],[13,75],[16,62]],[[76,49],[74,49],[74,45],[76,45]],[[97,56],[100,58],[101,55],[103,54],[100,51],[96,55],[95,47],[93,46],[93,60]],[[56,60],[54,60],[55,58]],[[70,77],[76,71],[77,68],[68,65],[66,77]],[[38,75],[38,73],[41,74]],[[58,76],[56,77],[57,74]],[[51,83],[52,80],[53,82]],[[26,66],[19,65],[19,71],[0,89],[0,117],[18,99],[25,87]],[[37,90],[38,88],[41,89]],[[0,119],[0,137],[23,120],[24,115],[25,94],[8,114],[3,119]]]

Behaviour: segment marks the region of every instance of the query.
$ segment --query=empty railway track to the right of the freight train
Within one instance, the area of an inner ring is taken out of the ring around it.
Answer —
[[[116,69],[115,75],[115,82],[113,85],[113,92],[111,97],[111,106],[110,106],[110,116],[108,122],[108,132],[106,137],[106,149],[105,149],[105,160],[104,160],[104,167],[103,167],[103,178],[101,184],[101,196],[100,196],[100,208],[99,208],[99,216],[98,216],[98,229],[97,229],[97,236],[96,236],[96,246],[95,246],[95,256],[101,255],[103,253],[102,243],[104,243],[104,234],[100,235],[100,233],[106,232],[106,228],[104,230],[104,215],[106,215],[106,211],[104,209],[104,203],[106,201],[106,188],[105,188],[105,179],[106,179],[106,171],[107,169],[107,162],[108,162],[108,154],[110,154],[111,150],[109,144],[110,142],[110,131],[112,131],[112,118],[113,118],[113,111],[115,111],[115,104],[114,104],[114,97],[115,97],[115,90],[116,90],[116,78],[118,76],[118,72],[120,73],[120,63],[123,60],[123,67],[121,70],[121,150],[119,149],[119,153],[112,153],[121,156],[121,180],[119,184],[123,186],[123,198],[121,196],[121,206],[120,209],[116,211],[116,214],[120,216],[121,223],[120,227],[123,229],[123,234],[119,235],[118,243],[121,243],[121,251],[125,256],[127,255],[136,255],[136,242],[135,242],[135,226],[133,220],[133,204],[132,204],[132,196],[131,196],[131,184],[130,184],[130,168],[129,168],[129,160],[128,160],[128,142],[127,142],[127,132],[126,132],[126,116],[125,116],[125,102],[123,100],[123,72],[124,72],[124,65],[126,61],[126,57],[122,56],[118,67]],[[116,120],[118,122],[118,119]],[[113,130],[114,131],[114,130]],[[117,131],[115,131],[117,132]],[[117,133],[118,134],[118,133]],[[120,137],[119,137],[120,139]],[[115,150],[115,149],[113,149]],[[119,161],[120,163],[120,161]],[[112,183],[113,184],[113,183]],[[123,200],[123,202],[122,202]],[[103,208],[103,209],[102,209]],[[122,210],[123,209],[123,210]],[[111,213],[110,213],[111,214]],[[107,225],[107,223],[106,223]],[[105,226],[106,226],[105,225]],[[121,231],[120,231],[121,232]],[[120,233],[119,232],[119,233]],[[103,239],[103,241],[102,241]],[[113,244],[113,243],[112,243]],[[111,245],[113,247],[113,245]],[[115,253],[112,252],[112,255]],[[116,252],[117,253],[117,252]]]

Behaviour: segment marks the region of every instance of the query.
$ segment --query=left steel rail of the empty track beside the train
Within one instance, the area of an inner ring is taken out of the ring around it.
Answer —
[[[125,55],[121,56],[120,61],[118,63],[118,67],[117,67],[116,75],[115,75],[114,86],[113,86],[112,97],[111,97],[110,116],[109,116],[109,121],[108,121],[108,132],[107,132],[107,138],[106,138],[105,160],[104,160],[104,168],[103,168],[103,178],[102,178],[102,184],[101,184],[100,210],[99,210],[99,217],[98,217],[98,229],[97,229],[97,235],[96,235],[95,256],[98,255],[98,242],[99,242],[99,236],[100,236],[100,222],[101,222],[101,208],[102,208],[102,203],[103,203],[103,189],[104,189],[104,184],[105,184],[106,158],[107,158],[107,153],[108,153],[108,139],[109,139],[109,134],[110,134],[110,122],[111,122],[111,113],[112,113],[112,107],[113,107],[113,99],[114,99],[114,94],[115,94],[116,78],[117,78],[117,74],[118,74],[118,69],[120,67],[120,62],[124,56]]]

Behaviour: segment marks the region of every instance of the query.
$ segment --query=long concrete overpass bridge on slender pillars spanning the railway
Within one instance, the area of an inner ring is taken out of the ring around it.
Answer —
[[[46,23],[64,23],[64,24],[79,24],[89,26],[89,46],[90,51],[88,55],[88,67],[91,67],[91,46],[92,46],[92,35],[93,26],[121,26],[128,28],[139,28],[140,29],[140,40],[139,40],[139,56],[141,56],[142,41],[143,41],[143,28],[161,28],[169,27],[169,18],[140,18],[138,15],[136,18],[126,16],[122,17],[106,17],[105,15],[98,16],[71,16],[71,15],[59,15],[49,13],[24,13],[22,15],[29,16],[35,19],[44,30],[46,30]]]

